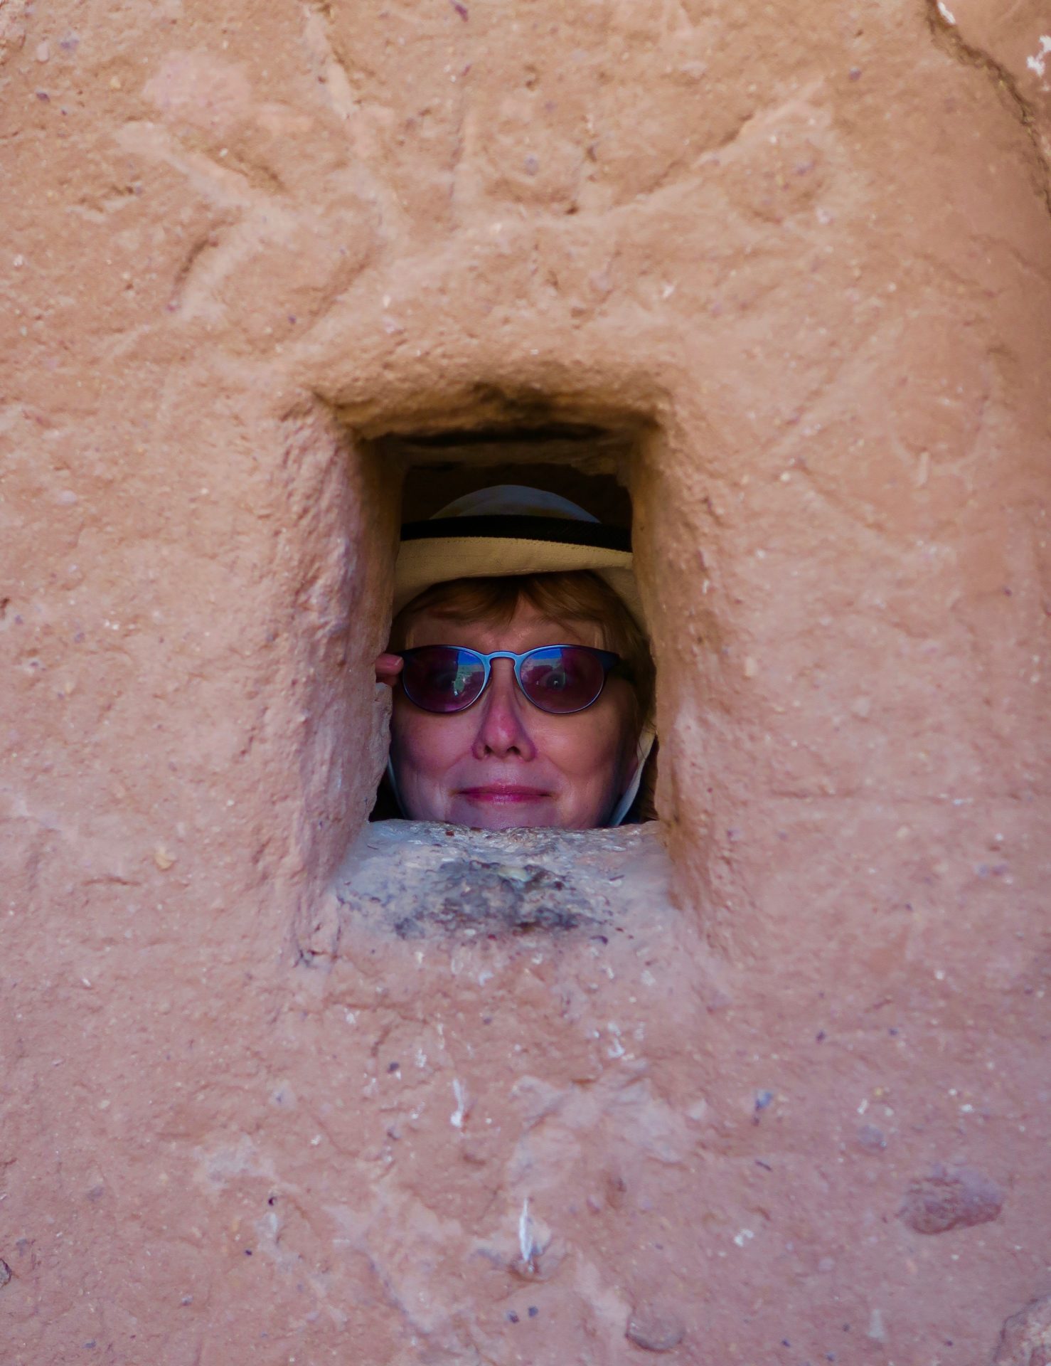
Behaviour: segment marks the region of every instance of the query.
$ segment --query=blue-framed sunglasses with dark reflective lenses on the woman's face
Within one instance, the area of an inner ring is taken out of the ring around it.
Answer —
[[[493,660],[513,660],[515,679],[534,706],[554,716],[583,712],[598,702],[606,678],[620,663],[610,650],[588,645],[541,645],[524,654],[464,650],[459,645],[420,645],[401,650],[401,687],[424,712],[465,712],[485,693]]]

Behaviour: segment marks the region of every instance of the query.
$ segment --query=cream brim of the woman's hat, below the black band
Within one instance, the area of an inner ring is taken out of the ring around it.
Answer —
[[[528,537],[442,534],[403,541],[394,567],[394,616],[426,589],[450,579],[583,570],[603,578],[646,631],[631,550]]]

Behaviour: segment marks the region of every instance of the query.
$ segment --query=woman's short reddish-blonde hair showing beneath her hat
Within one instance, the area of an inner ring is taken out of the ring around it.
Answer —
[[[654,661],[650,646],[622,598],[591,570],[561,574],[509,574],[479,579],[450,579],[418,593],[401,608],[390,627],[390,649],[405,647],[409,627],[423,612],[450,622],[506,626],[520,602],[528,602],[553,622],[588,622],[599,627],[602,646],[620,654],[621,676],[635,694],[636,725],[654,705]]]

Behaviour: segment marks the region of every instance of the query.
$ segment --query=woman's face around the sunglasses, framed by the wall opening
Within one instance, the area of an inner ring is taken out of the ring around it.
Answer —
[[[520,602],[506,626],[420,613],[405,647],[420,645],[521,654],[539,645],[602,649],[603,641],[596,624],[551,622]],[[602,825],[635,770],[629,684],[610,678],[590,708],[553,716],[523,695],[510,660],[493,660],[491,669],[482,697],[452,714],[423,712],[394,688],[390,758],[405,816],[486,831]]]

